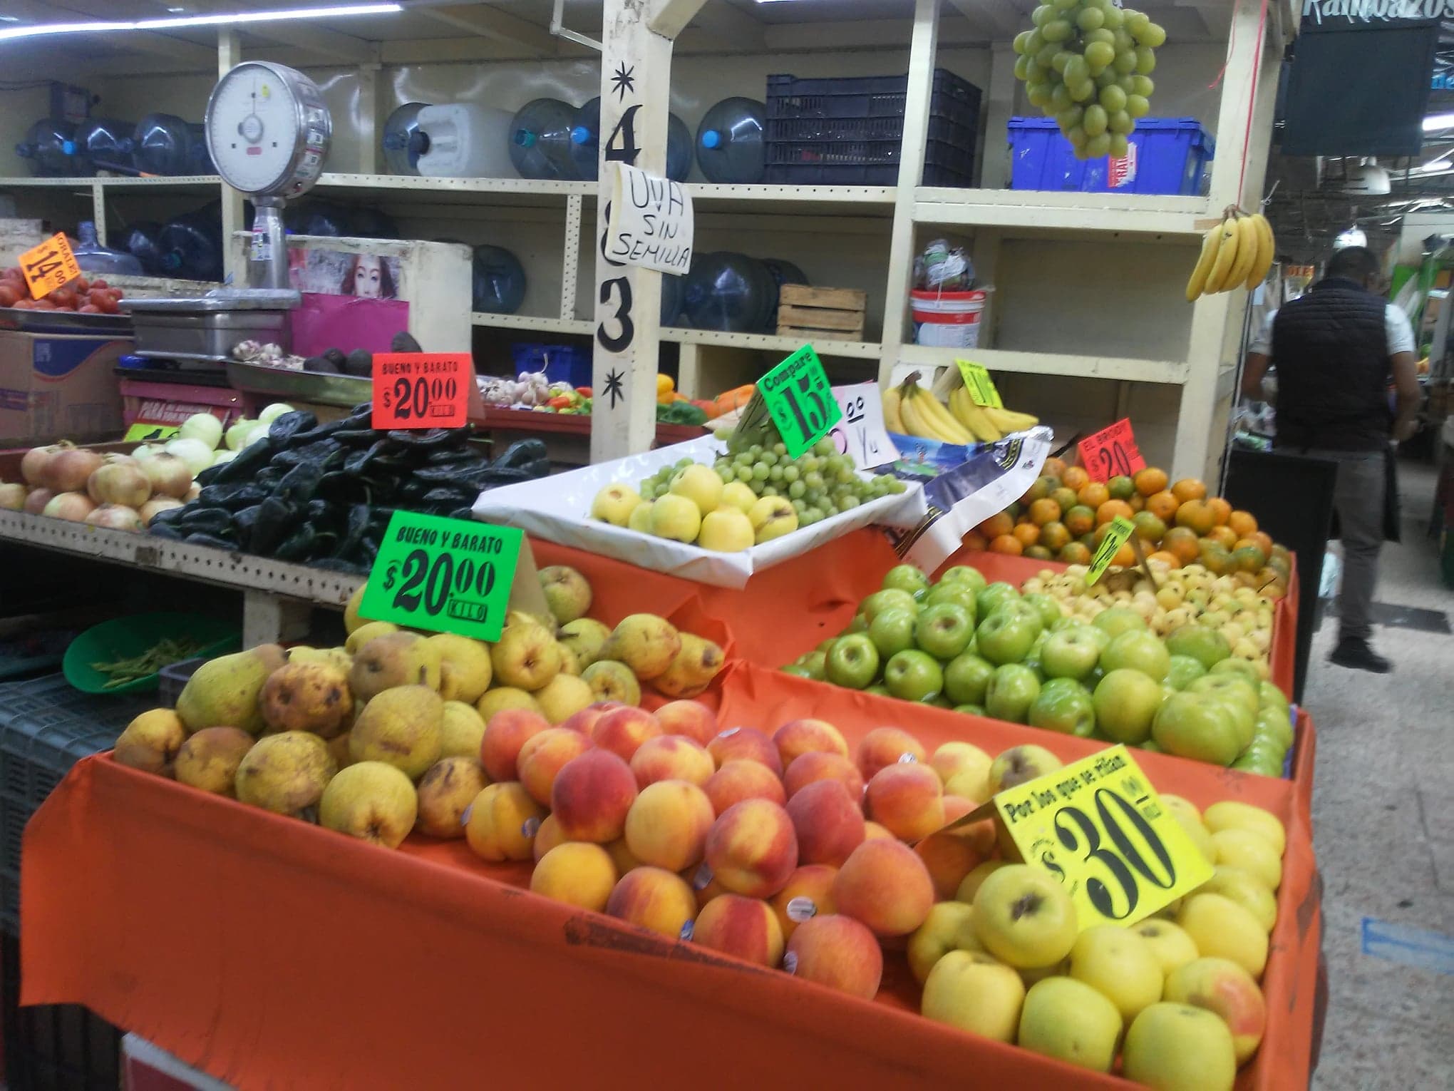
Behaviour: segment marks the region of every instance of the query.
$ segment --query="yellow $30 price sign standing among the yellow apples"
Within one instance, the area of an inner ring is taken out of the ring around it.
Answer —
[[[1136,924],[1211,879],[1125,746],[1006,788],[995,807],[1025,863],[1064,883],[1080,928]]]

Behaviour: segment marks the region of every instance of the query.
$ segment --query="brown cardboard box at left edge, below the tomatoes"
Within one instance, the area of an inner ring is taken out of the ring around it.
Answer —
[[[0,447],[121,433],[116,359],[131,340],[0,330]]]

